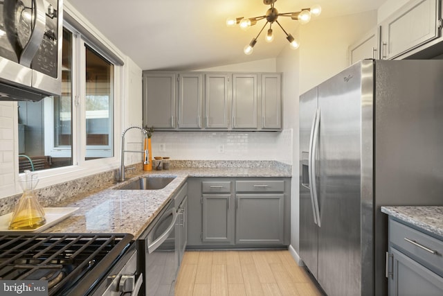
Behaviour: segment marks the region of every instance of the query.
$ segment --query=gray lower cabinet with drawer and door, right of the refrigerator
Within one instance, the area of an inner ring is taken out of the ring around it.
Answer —
[[[389,295],[443,295],[443,241],[390,218]]]

